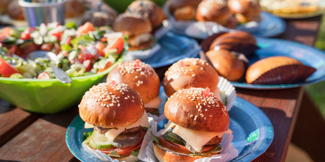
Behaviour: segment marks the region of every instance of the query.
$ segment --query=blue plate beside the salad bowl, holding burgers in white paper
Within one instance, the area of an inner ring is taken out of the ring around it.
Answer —
[[[151,65],[152,68],[170,65],[186,57],[196,57],[201,50],[195,39],[171,32],[166,33],[159,40],[159,44],[162,48],[155,55],[149,59],[141,60]]]

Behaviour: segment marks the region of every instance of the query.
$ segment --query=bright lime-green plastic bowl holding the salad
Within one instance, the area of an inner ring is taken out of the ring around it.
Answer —
[[[72,83],[58,79],[13,79],[0,77],[0,98],[27,111],[52,114],[80,103],[83,94],[98,85],[118,63],[124,60],[127,43],[120,58],[104,72],[72,77]]]

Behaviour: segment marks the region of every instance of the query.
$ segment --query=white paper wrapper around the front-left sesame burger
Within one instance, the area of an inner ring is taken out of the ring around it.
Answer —
[[[157,132],[157,122],[154,121],[154,118],[148,117],[148,121],[149,121],[149,125],[151,127],[148,129],[147,133],[144,135],[142,145],[148,143],[148,140],[146,140],[146,139],[148,138],[148,136],[151,137],[150,131]],[[119,162],[118,160],[113,160],[111,157],[107,156],[105,153],[102,153],[100,150],[93,150],[87,144],[82,144],[82,148],[86,153],[94,156],[95,158],[99,159],[102,162]],[[139,155],[140,155],[140,153],[145,152],[145,151],[146,150],[142,150],[142,146],[141,146]],[[139,158],[139,155],[138,155],[138,158]]]

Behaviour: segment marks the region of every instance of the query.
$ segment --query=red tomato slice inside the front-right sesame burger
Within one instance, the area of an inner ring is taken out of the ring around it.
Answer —
[[[176,151],[181,152],[184,154],[192,154],[191,151],[189,151],[184,145],[182,144],[176,144],[171,141],[166,140],[163,138],[163,135],[159,136],[159,144],[163,145],[164,147]],[[210,151],[212,150],[216,145],[204,145],[204,149],[202,152]]]

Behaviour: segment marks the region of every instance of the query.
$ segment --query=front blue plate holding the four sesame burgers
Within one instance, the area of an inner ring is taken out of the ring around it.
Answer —
[[[234,139],[232,144],[238,149],[239,156],[231,162],[250,162],[260,156],[272,143],[274,132],[273,126],[264,112],[237,97],[233,107],[229,111],[230,126]],[[160,123],[167,123],[162,121]],[[84,122],[78,115],[70,123],[66,131],[65,141],[71,153],[82,162],[100,162],[92,155],[83,151],[82,141],[85,140],[83,133],[92,129],[85,129]]]

